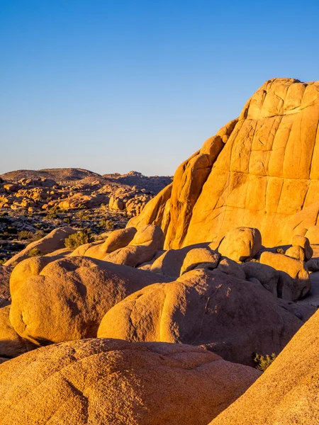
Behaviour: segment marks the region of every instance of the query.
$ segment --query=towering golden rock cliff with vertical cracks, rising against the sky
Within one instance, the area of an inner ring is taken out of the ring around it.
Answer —
[[[319,82],[266,81],[130,225],[161,225],[165,248],[219,242],[239,226],[257,227],[266,246],[293,234],[319,242],[318,120]]]

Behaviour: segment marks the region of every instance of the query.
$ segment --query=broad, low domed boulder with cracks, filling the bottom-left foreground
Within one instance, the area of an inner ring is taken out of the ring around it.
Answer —
[[[56,344],[1,365],[1,425],[206,425],[259,375],[181,344]]]

